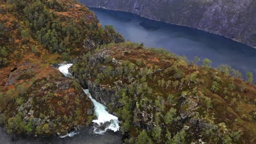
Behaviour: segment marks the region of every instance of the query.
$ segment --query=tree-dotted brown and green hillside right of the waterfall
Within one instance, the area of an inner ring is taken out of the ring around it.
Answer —
[[[127,143],[254,143],[256,87],[195,63],[128,41],[87,53],[72,73],[121,119]]]

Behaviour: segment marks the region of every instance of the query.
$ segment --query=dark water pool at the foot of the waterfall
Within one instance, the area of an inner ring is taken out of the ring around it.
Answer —
[[[68,143],[68,144],[76,144],[76,143],[123,143],[123,135],[121,131],[112,132],[107,131],[104,135],[97,135],[94,134],[94,127],[92,124],[85,126],[82,130],[78,131],[79,134],[74,135],[72,137],[64,137],[61,138],[60,136],[51,136],[51,137],[22,137],[16,136],[15,140],[13,139],[13,135],[9,135],[3,129],[0,128],[0,140],[5,144],[26,144],[26,143],[35,143],[35,144],[43,144],[43,143]]]

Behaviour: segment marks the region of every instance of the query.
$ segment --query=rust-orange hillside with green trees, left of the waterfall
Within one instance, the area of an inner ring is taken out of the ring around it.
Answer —
[[[48,136],[90,123],[91,100],[52,64],[120,41],[71,0],[0,1],[0,124],[9,134]]]

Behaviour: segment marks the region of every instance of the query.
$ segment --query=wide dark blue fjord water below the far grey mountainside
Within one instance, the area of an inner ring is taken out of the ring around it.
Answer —
[[[211,59],[212,67],[230,65],[245,75],[256,75],[256,49],[216,34],[194,28],[171,25],[141,16],[100,8],[90,8],[101,24],[113,25],[126,40],[147,47],[162,47],[192,60],[195,56]]]

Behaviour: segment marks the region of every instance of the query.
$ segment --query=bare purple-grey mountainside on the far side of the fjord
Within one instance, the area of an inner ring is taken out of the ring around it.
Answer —
[[[149,19],[188,26],[256,47],[254,0],[80,0],[89,7],[128,11]]]

